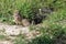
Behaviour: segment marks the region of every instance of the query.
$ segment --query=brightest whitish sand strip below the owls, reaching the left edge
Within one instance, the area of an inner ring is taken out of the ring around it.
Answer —
[[[1,32],[3,31],[4,32]],[[8,25],[8,24],[1,24],[0,25],[0,33],[4,35],[19,35],[29,33],[29,26],[23,28],[22,25]]]

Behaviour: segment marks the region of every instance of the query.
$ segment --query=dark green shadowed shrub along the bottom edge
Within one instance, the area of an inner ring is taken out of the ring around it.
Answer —
[[[32,42],[29,42],[28,44],[54,44],[54,40],[45,36],[40,36],[32,40]]]

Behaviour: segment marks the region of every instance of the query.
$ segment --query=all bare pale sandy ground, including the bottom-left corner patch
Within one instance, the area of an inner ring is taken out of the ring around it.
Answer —
[[[34,38],[34,36],[38,36],[40,32],[37,31],[30,31],[29,26],[21,26],[21,25],[8,25],[0,23],[0,35],[12,36],[10,38],[14,38],[13,36],[24,34],[25,38]],[[0,44],[13,44],[11,41],[0,41]]]

